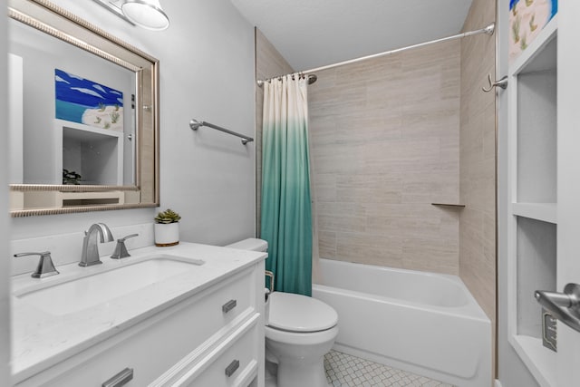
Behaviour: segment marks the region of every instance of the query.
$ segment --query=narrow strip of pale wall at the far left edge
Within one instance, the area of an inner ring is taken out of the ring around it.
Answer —
[[[0,17],[0,128],[5,128],[7,119],[7,77],[6,63],[6,18]],[[8,164],[8,131],[0,131],[0,165]],[[8,169],[0,168],[0,214],[8,211]],[[10,260],[8,256],[8,218],[0,217],[0,385],[10,385],[10,305],[8,298],[8,279]]]

